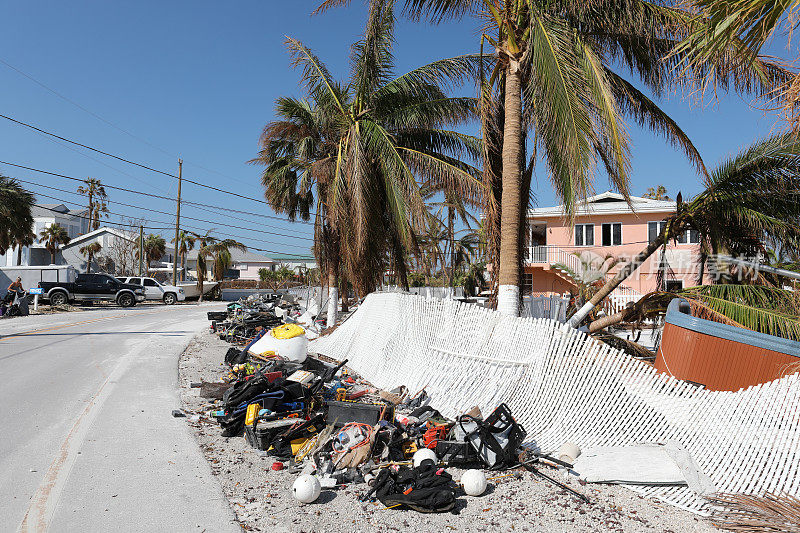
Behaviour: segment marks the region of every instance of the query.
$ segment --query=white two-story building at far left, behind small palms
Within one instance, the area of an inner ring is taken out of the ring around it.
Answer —
[[[39,234],[52,224],[59,224],[70,239],[74,239],[89,231],[88,209],[69,209],[64,204],[41,204],[34,206],[33,233],[35,241],[32,246],[22,248],[21,262],[18,247],[9,248],[5,256],[0,258],[3,266],[41,266],[51,262],[50,252],[45,248],[45,243],[39,240]],[[56,254],[56,264],[63,264],[60,254]]]

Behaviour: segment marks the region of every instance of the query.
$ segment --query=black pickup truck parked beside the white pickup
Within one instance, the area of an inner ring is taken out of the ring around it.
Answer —
[[[121,307],[131,307],[144,300],[141,285],[122,283],[108,274],[78,274],[75,281],[41,281],[44,299],[51,305],[63,305],[70,301],[108,301],[113,300]]]

